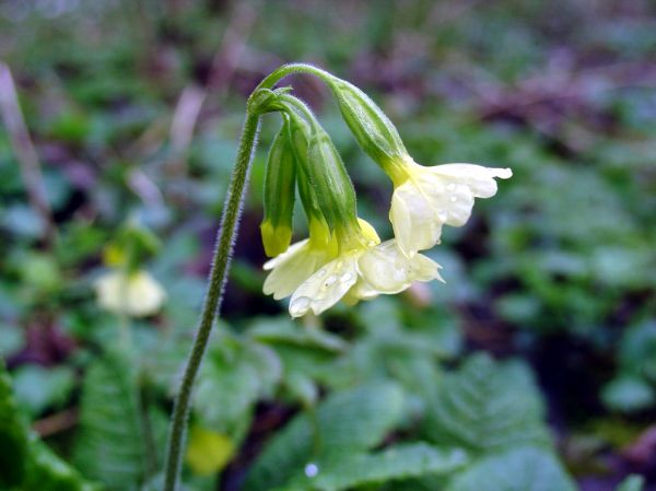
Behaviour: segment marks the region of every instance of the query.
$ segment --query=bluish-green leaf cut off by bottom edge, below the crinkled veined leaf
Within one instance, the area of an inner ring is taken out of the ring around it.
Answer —
[[[517,447],[485,457],[452,480],[446,491],[575,491],[549,451]]]

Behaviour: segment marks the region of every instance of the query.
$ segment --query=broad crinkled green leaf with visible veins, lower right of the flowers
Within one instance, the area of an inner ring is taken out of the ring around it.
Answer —
[[[517,445],[550,445],[532,377],[517,362],[476,354],[438,387],[426,413],[426,436],[438,444],[487,453]]]

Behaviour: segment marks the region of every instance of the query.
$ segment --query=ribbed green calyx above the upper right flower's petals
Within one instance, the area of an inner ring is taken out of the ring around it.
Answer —
[[[408,154],[393,122],[364,92],[337,77],[327,82],[358,143],[378,165],[387,171]]]

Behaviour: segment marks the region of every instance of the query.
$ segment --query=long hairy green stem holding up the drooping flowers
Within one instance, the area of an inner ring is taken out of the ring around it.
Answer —
[[[206,352],[214,318],[221,305],[223,288],[227,279],[226,273],[230,266],[230,258],[239,225],[242,203],[246,194],[250,162],[257,144],[259,120],[259,115],[247,114],[244,129],[242,130],[237,160],[227,190],[221,226],[216,235],[216,246],[212,270],[210,271],[208,292],[196,339],[194,340],[191,353],[187,360],[183,381],[173,408],[173,420],[171,422],[168,447],[166,451],[164,491],[175,491],[177,489],[181,453],[186,440],[187,421],[189,419],[191,389],[194,388],[194,382]]]

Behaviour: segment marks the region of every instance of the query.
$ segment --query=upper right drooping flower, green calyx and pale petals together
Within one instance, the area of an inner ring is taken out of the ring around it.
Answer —
[[[394,182],[389,218],[405,255],[412,256],[437,244],[442,225],[464,225],[471,214],[473,199],[494,196],[494,178],[506,179],[513,175],[509,168],[473,164],[434,167],[417,164],[376,103],[344,80],[330,74],[324,78],[362,149]]]

